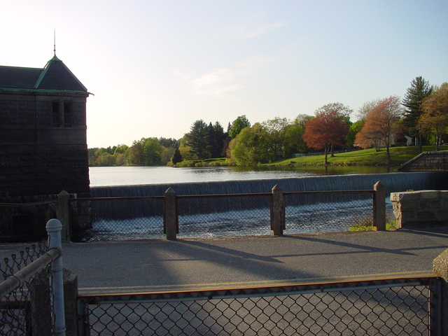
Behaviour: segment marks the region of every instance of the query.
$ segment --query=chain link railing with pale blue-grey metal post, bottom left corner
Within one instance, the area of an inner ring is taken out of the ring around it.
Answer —
[[[47,223],[49,244],[33,244],[3,258],[0,272],[1,335],[65,335],[62,225]]]

